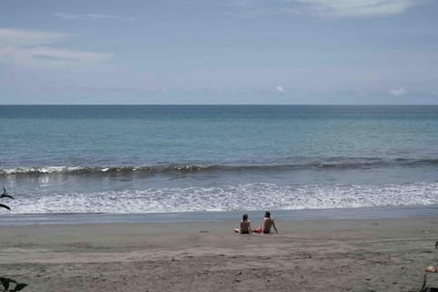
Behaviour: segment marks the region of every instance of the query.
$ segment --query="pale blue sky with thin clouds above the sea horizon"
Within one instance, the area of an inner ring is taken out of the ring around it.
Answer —
[[[438,1],[0,0],[0,104],[438,104]]]

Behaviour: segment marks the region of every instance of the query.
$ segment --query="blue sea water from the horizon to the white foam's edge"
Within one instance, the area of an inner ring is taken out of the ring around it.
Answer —
[[[13,214],[438,203],[438,106],[0,106],[0,135]]]

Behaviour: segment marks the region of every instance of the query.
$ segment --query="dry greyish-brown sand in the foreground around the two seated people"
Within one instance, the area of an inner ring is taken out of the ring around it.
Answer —
[[[29,292],[418,291],[438,264],[438,217],[237,224],[0,226],[0,276]]]

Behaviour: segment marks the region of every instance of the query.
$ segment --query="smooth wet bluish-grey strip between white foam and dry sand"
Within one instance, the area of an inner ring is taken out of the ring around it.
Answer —
[[[384,219],[431,217],[438,214],[438,204],[412,206],[378,206],[334,209],[269,210],[280,220],[336,220],[336,219]],[[170,213],[69,213],[69,214],[0,214],[2,225],[33,224],[117,224],[117,223],[193,223],[240,220],[246,213],[249,218],[262,218],[264,210],[258,211],[193,211]]]

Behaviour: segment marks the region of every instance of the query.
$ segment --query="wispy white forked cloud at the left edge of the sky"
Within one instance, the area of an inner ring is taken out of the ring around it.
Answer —
[[[108,61],[111,53],[48,47],[70,36],[41,31],[0,29],[0,63],[24,67],[83,67]]]

